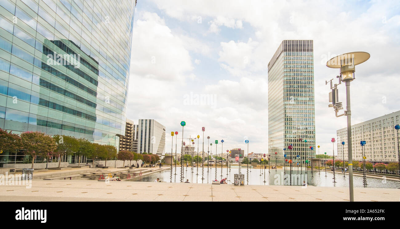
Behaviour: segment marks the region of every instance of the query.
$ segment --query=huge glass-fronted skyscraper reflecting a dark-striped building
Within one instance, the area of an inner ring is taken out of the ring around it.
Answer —
[[[0,128],[117,147],[135,1],[1,0]]]

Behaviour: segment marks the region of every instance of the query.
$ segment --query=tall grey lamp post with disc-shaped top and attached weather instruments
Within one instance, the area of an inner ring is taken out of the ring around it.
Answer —
[[[350,82],[355,79],[355,66],[367,61],[370,58],[370,54],[368,52],[348,52],[339,56],[336,56],[328,62],[326,62],[326,66],[328,68],[340,68],[340,75],[336,76],[339,78],[339,84],[342,82],[346,83],[346,110],[342,115],[347,116],[347,142],[348,142],[348,165],[349,165],[349,193],[350,193],[350,201],[354,201],[354,191],[353,191],[353,158],[352,158],[352,139],[351,139],[351,109],[350,109]],[[333,80],[333,79],[332,79]],[[338,101],[338,89],[337,85],[334,84],[332,86],[332,80],[330,80],[330,102],[329,107],[333,107],[336,113],[336,117],[340,117],[342,115],[338,115],[338,111],[343,109],[342,102]],[[328,81],[325,81],[325,85],[328,84]]]

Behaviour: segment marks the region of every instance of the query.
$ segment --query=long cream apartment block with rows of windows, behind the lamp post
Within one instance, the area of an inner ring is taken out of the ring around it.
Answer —
[[[360,141],[366,141],[364,152],[366,160],[371,162],[398,162],[397,131],[400,110],[375,119],[351,126],[353,160],[362,161]],[[337,131],[338,158],[348,160],[347,128]],[[342,145],[342,141],[345,142]]]

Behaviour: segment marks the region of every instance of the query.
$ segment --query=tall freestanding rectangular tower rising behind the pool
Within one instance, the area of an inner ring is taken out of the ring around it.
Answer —
[[[268,63],[268,151],[280,164],[315,156],[313,50],[312,40],[283,40]]]

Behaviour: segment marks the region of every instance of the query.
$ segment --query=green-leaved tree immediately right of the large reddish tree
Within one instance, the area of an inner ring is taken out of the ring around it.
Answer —
[[[54,135],[53,139],[57,145],[54,156],[58,156],[58,168],[60,168],[61,157],[64,155],[72,155],[78,151],[79,143],[74,137],[66,135]]]

